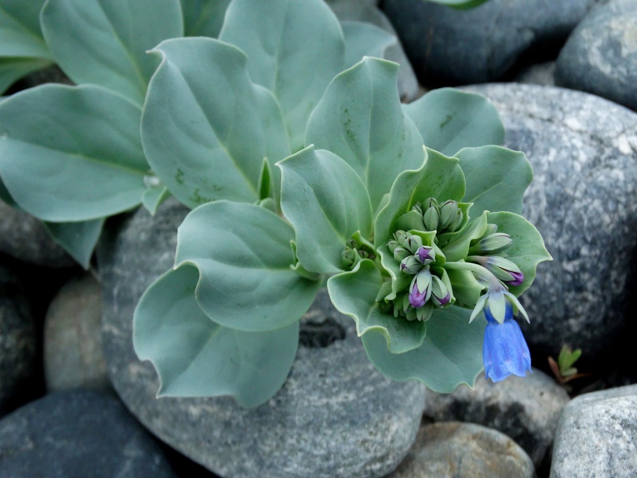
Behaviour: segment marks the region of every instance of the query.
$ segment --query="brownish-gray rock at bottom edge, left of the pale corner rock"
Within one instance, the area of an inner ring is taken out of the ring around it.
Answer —
[[[387,478],[532,478],[531,458],[503,433],[473,423],[420,428],[407,458]]]

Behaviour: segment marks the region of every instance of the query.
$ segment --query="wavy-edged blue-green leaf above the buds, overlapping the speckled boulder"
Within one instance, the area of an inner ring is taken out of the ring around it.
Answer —
[[[533,180],[524,153],[499,146],[464,148],[455,157],[466,178],[463,201],[473,203],[471,214],[509,211],[522,214],[522,197]]]

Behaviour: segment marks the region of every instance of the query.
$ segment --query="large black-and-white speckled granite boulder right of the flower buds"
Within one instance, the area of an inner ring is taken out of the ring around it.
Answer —
[[[554,261],[522,296],[527,342],[557,356],[581,348],[601,361],[622,328],[637,260],[637,114],[590,94],[503,83],[469,87],[490,98],[506,147],[522,150],[534,180],[524,215]]]

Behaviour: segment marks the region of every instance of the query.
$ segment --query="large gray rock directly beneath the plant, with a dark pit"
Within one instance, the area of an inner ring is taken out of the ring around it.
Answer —
[[[154,218],[139,210],[98,252],[104,356],[127,407],[224,478],[371,478],[394,470],[419,428],[424,387],[376,372],[353,322],[326,294],[306,314],[296,362],[268,403],[243,409],[228,397],[155,398],[155,371],[132,349],[132,315],[144,289],[171,266],[186,212],[172,202]]]

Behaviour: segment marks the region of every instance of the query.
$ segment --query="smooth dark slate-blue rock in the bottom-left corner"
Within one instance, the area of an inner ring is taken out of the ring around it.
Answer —
[[[112,396],[58,392],[0,420],[0,478],[175,478]]]

